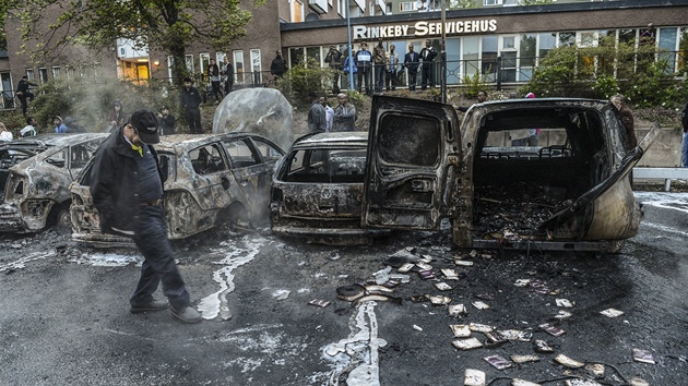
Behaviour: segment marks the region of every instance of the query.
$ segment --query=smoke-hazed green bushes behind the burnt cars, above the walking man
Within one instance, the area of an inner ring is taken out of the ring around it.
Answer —
[[[36,98],[29,104],[28,114],[38,121],[40,133],[54,132],[55,116],[72,117],[88,132],[104,132],[115,99],[121,101],[126,114],[138,109],[157,112],[161,106],[167,105],[171,114],[180,117],[179,94],[168,88],[165,83],[135,85],[117,79],[98,82],[55,80],[35,91]]]

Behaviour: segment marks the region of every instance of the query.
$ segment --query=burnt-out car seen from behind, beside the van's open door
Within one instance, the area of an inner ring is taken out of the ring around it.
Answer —
[[[272,230],[327,244],[369,243],[388,233],[360,227],[367,146],[366,132],[297,140],[273,177]]]

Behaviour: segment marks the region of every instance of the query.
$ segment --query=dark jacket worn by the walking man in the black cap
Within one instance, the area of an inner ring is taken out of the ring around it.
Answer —
[[[153,146],[149,145],[149,148],[159,174],[157,152]],[[91,169],[91,196],[98,209],[100,231],[104,233],[134,236],[141,207],[139,168],[134,156],[138,155],[124,140],[122,128],[110,134],[96,150]]]

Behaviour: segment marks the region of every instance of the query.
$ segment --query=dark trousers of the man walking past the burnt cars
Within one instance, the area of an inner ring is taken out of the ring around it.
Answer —
[[[167,240],[167,225],[162,206],[141,206],[137,237],[133,241],[144,261],[141,266],[141,278],[131,294],[130,303],[151,302],[153,292],[162,282],[163,293],[173,307],[180,310],[189,306],[191,297],[175,264],[175,254]]]

